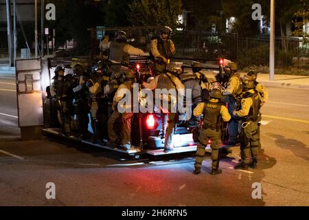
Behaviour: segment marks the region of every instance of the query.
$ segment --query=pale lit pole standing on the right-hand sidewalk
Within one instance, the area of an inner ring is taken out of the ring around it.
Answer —
[[[275,79],[275,0],[271,0],[271,39],[269,44],[269,80]]]

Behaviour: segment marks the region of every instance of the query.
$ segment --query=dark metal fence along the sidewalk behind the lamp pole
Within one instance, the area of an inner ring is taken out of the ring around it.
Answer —
[[[269,37],[244,38],[237,34],[183,30],[174,36],[176,49],[182,55],[229,58],[241,66],[268,65]],[[309,67],[309,45],[299,38],[275,39],[276,67]]]

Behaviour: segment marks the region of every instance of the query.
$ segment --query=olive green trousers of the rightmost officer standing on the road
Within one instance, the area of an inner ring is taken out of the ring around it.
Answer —
[[[250,162],[250,159],[258,160],[260,145],[258,122],[249,121],[248,123],[245,128],[242,128],[240,135],[240,154],[246,164]]]

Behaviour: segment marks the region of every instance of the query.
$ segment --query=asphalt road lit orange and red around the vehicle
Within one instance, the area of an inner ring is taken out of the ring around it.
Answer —
[[[309,206],[306,90],[269,87],[258,168],[234,170],[233,148],[222,157],[223,173],[211,176],[208,153],[193,175],[190,153],[134,160],[51,137],[21,142],[13,84],[0,74],[0,206]],[[56,199],[45,197],[48,182]],[[262,199],[252,197],[256,182]]]

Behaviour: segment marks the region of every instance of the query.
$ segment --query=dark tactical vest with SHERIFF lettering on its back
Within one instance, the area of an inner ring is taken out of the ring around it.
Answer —
[[[204,129],[213,129],[216,131],[220,131],[221,106],[222,106],[221,102],[210,102],[210,101],[205,102],[203,111]]]

